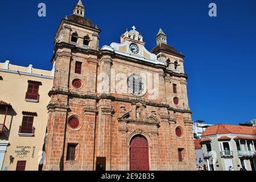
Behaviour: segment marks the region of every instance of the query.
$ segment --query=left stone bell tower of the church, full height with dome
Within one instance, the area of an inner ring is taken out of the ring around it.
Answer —
[[[93,169],[92,160],[84,160],[75,165],[72,161],[79,159],[67,160],[70,144],[86,148],[79,154],[88,152],[88,158],[93,159],[93,145],[85,141],[94,140],[96,107],[93,106],[95,100],[92,98],[96,97],[96,53],[101,30],[84,15],[85,6],[80,0],[73,13],[61,20],[55,35],[51,60],[55,65],[55,78],[49,92],[51,101],[47,106],[48,133],[44,170]],[[89,98],[82,97],[85,95]],[[86,135],[75,141],[69,140],[79,132]]]

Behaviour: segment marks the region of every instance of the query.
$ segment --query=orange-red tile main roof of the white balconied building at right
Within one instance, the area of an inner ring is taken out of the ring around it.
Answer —
[[[256,135],[256,128],[251,126],[240,126],[240,125],[214,125],[209,126],[202,136],[216,135],[216,134],[246,134]]]

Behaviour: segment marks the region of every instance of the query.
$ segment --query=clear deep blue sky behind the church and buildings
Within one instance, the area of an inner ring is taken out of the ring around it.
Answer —
[[[39,18],[38,4],[47,16]],[[0,62],[51,69],[53,37],[78,0],[0,1]],[[100,46],[119,42],[126,28],[151,50],[159,28],[185,57],[193,120],[238,124],[256,118],[256,1],[84,0],[85,16],[102,30]],[[217,17],[208,5],[217,5]]]

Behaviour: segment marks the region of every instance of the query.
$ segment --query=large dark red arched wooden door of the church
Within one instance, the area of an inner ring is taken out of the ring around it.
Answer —
[[[131,139],[130,171],[149,171],[148,142],[142,135]]]

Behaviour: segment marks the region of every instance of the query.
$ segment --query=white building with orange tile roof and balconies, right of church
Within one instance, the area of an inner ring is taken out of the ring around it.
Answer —
[[[204,159],[210,171],[256,169],[256,127],[209,126],[201,135]]]

